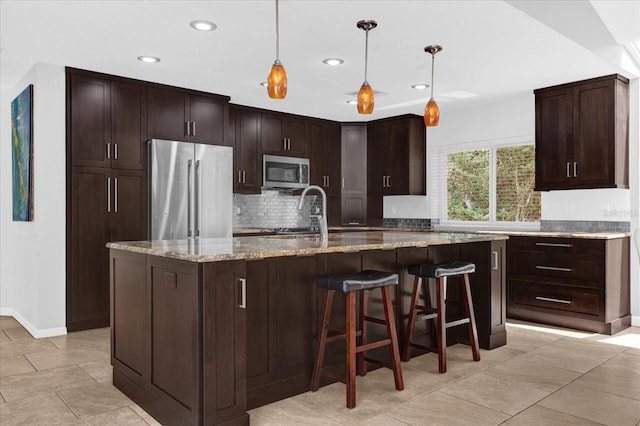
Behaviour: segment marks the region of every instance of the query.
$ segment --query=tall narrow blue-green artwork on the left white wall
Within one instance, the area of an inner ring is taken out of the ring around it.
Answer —
[[[13,220],[33,220],[33,84],[11,101]]]

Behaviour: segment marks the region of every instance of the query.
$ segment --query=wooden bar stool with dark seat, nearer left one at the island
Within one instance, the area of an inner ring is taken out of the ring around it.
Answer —
[[[367,373],[367,362],[391,368],[393,370],[396,389],[403,390],[404,382],[402,380],[402,369],[400,367],[398,337],[393,319],[391,293],[389,291],[390,286],[398,285],[398,274],[364,270],[348,275],[318,277],[316,283],[318,287],[327,289],[327,294],[324,300],[324,314],[318,336],[318,351],[315,358],[313,376],[311,378],[311,390],[314,392],[318,390],[320,386],[320,376],[339,380],[347,385],[347,408],[353,408],[356,406],[356,364],[358,374],[364,376]],[[373,290],[375,288],[379,288],[382,292],[384,320],[367,315],[367,290]],[[329,324],[333,295],[336,291],[344,293],[346,297],[345,329],[331,327]],[[360,293],[360,315],[359,318],[357,318],[359,330],[356,330],[356,293]],[[388,338],[368,343],[365,321],[386,325]],[[329,332],[332,333],[331,336],[329,336]],[[356,338],[359,340],[358,344],[356,344]],[[343,339],[346,340],[345,377],[338,376],[323,369],[325,345]],[[365,357],[364,352],[385,345],[390,345],[391,364]]]

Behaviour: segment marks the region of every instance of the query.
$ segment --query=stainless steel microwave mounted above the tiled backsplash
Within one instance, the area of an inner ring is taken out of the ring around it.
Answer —
[[[263,155],[262,186],[264,188],[306,188],[309,186],[309,159]]]

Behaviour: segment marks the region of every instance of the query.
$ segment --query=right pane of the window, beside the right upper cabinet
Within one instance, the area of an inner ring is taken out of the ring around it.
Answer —
[[[533,145],[498,148],[496,151],[496,220],[537,222],[540,193],[534,192]]]

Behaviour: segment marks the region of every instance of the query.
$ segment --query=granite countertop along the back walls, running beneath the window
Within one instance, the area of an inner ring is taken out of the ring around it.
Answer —
[[[616,238],[628,237],[630,234],[624,232],[577,232],[577,231],[516,231],[516,230],[478,230],[478,229],[425,229],[425,228],[389,228],[382,226],[330,226],[329,232],[455,232],[465,234],[489,234],[489,235],[507,235],[513,237],[551,237],[551,238],[585,238],[594,240],[611,240]],[[264,228],[234,228],[233,234],[242,236],[242,234],[274,234],[273,229]]]

